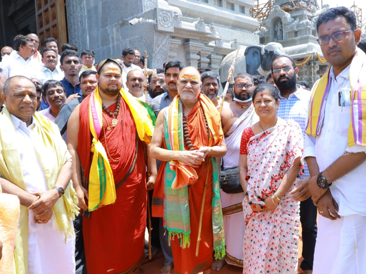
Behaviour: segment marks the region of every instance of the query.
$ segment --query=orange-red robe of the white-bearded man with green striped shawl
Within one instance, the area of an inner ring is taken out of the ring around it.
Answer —
[[[199,149],[201,146],[208,145],[208,137],[205,120],[203,118],[202,108],[197,102],[187,117],[188,130],[193,142],[194,148]],[[210,133],[211,134],[211,133]],[[164,134],[163,134],[164,136]],[[165,144],[164,148],[166,149]],[[185,147],[185,150],[188,150]],[[205,165],[206,163],[206,165]],[[167,162],[162,162],[159,168],[156,185],[153,195],[153,203],[163,205],[164,197],[164,180],[165,165]],[[198,272],[208,270],[212,267],[212,252],[213,252],[213,229],[212,229],[212,166],[208,157],[198,168],[197,175],[199,179],[191,186],[188,186],[189,208],[190,208],[190,246],[182,248],[179,245],[179,239],[176,237],[171,241],[174,271],[177,274],[197,274]],[[206,188],[205,205],[203,209],[201,241],[199,243],[199,254],[195,256],[199,216],[201,213],[203,188],[206,181],[206,173],[209,172],[208,185]],[[153,215],[163,217],[163,207],[153,206]]]

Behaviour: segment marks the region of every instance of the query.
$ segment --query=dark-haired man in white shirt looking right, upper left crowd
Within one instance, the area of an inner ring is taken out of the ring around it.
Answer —
[[[16,35],[14,48],[15,51],[1,64],[3,73],[8,78],[16,75],[31,78],[34,72],[40,68],[40,64],[31,58],[36,50],[32,38],[20,34]]]

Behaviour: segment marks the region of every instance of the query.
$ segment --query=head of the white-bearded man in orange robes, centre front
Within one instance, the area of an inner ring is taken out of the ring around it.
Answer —
[[[183,103],[197,102],[202,88],[201,73],[193,66],[183,68],[178,74],[177,88]]]

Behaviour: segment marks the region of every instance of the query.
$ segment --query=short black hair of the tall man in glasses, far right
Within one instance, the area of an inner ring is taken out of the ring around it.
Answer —
[[[326,9],[319,15],[317,20],[317,31],[319,30],[319,26],[321,24],[326,23],[329,20],[336,19],[340,16],[346,18],[347,23],[351,25],[351,30],[355,30],[357,28],[356,15],[353,11],[346,7],[335,7]]]

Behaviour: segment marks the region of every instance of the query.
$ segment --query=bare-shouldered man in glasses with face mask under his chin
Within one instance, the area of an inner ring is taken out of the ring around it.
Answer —
[[[224,170],[238,167],[243,130],[258,121],[251,99],[254,91],[253,77],[247,73],[240,73],[234,78],[234,81],[234,101],[224,104],[221,111],[221,124],[227,149],[222,158]],[[242,202],[245,193],[228,194],[220,189],[220,198],[224,218],[226,255],[225,259],[216,260],[212,269],[220,270],[225,261],[230,265],[243,267],[242,241],[245,221]]]

